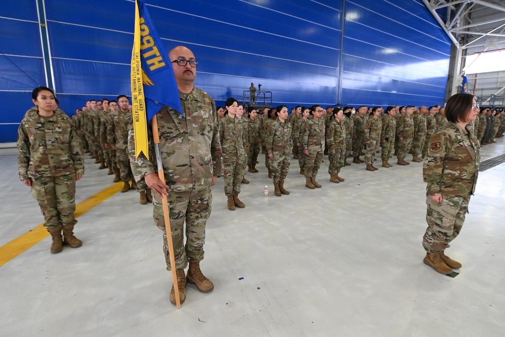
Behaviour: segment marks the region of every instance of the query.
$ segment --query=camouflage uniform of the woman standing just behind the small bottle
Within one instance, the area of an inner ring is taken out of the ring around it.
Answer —
[[[291,133],[291,125],[288,122],[281,123],[276,119],[271,123],[265,139],[267,153],[274,156],[274,158],[270,158],[270,169],[274,183],[286,180],[293,148]]]

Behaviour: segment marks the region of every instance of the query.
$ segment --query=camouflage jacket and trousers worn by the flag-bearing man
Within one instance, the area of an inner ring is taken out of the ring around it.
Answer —
[[[176,268],[185,268],[188,259],[204,258],[205,226],[211,214],[213,176],[221,176],[221,144],[216,104],[210,95],[196,87],[188,93],[179,92],[183,116],[163,107],[157,114],[160,148],[165,179],[169,188],[168,201]],[[129,132],[128,150],[134,158],[135,137]],[[153,145],[153,136],[149,133]],[[143,155],[131,161],[136,181],[157,173],[155,154]],[[164,235],[164,253],[170,270],[165,220],[161,200],[153,194],[153,217]],[[186,222],[187,242],[184,246],[182,226]]]

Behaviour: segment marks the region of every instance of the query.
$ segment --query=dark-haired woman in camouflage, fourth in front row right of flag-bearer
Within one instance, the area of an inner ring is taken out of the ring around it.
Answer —
[[[344,165],[345,159],[345,125],[343,122],[344,112],[340,108],[335,108],[332,111],[333,118],[331,119],[328,129],[326,130],[326,144],[328,145],[328,173],[330,181],[339,183],[345,179],[338,175],[340,169]]]

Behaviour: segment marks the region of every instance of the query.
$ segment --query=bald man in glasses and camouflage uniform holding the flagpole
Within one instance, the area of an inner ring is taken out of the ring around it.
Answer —
[[[197,63],[193,53],[186,47],[178,46],[170,51],[169,57],[173,61],[184,118],[178,111],[166,106],[154,117],[158,121],[161,157],[167,183],[161,182],[156,166],[143,155],[132,160],[132,169],[137,180],[145,178],[146,184],[156,192],[153,215],[156,225],[163,231],[163,251],[167,269],[170,270],[161,201],[162,194],[167,196],[177,285],[182,303],[186,297],[186,280],[196,284],[198,290],[203,293],[214,289],[212,281],[200,271],[199,262],[204,259],[205,227],[212,205],[211,186],[216,183],[217,176],[221,175],[221,145],[216,104],[207,92],[194,86]],[[134,158],[133,132],[130,132],[130,135],[130,154]],[[153,142],[152,136],[149,136],[149,141]],[[155,156],[151,153],[149,157]],[[185,275],[184,268],[188,262],[189,269]],[[174,287],[170,293],[170,302],[176,303]]]

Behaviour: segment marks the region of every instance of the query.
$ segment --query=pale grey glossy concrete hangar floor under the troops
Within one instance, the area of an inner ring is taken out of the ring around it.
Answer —
[[[497,141],[482,148],[482,161],[505,153],[505,138]],[[45,238],[0,267],[0,335],[504,334],[504,164],[480,173],[462,233],[446,251],[463,263],[451,278],[423,264],[422,163],[377,172],[352,164],[334,184],[325,160],[323,187],[310,190],[293,160],[291,194],[281,198],[263,163],[246,174],[245,209],[226,208],[222,179],[213,188],[201,263],[213,292],[188,285],[182,307],[170,304],[152,208],[135,191],[118,193],[78,219],[81,248],[52,255]],[[15,149],[0,150],[0,246],[43,222],[16,164]],[[111,184],[86,155],[77,203]]]

